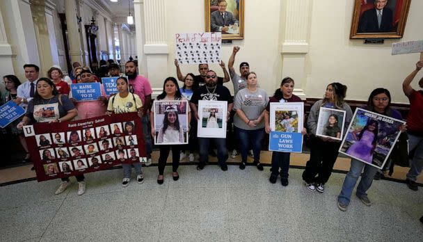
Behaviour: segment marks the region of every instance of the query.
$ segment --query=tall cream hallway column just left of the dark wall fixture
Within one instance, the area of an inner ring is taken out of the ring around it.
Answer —
[[[69,55],[72,63],[86,63],[83,61],[83,51],[81,48],[81,35],[78,31],[77,3],[75,0],[67,0],[65,3],[67,40],[69,44]],[[79,16],[79,15],[78,15]],[[83,29],[81,29],[83,31]]]

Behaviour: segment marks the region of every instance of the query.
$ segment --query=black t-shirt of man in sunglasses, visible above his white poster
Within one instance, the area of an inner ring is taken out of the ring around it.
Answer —
[[[198,100],[228,101],[228,104],[232,104],[232,102],[234,102],[229,89],[220,85],[216,86],[216,90],[214,90],[214,88],[209,88],[207,91],[206,86],[201,86],[200,88],[195,89],[190,102],[198,104]]]

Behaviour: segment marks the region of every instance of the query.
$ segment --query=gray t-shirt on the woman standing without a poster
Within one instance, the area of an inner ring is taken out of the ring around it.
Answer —
[[[250,92],[248,88],[244,88],[239,90],[237,97],[235,97],[234,109],[241,109],[249,120],[257,120],[264,108],[266,108],[267,102],[269,102],[269,97],[265,90],[257,88],[255,92]],[[264,118],[256,127],[250,127],[244,120],[239,118],[238,114],[235,114],[234,125],[239,129],[262,129],[264,127]]]

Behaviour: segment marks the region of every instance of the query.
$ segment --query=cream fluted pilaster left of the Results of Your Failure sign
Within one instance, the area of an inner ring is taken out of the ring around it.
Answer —
[[[140,8],[140,4],[134,4]],[[168,44],[166,42],[166,0],[143,0],[145,44],[147,61],[146,76],[154,88],[161,88],[168,70]],[[137,10],[139,13],[140,9]],[[138,29],[137,29],[138,32]],[[139,41],[139,42],[138,42]],[[143,42],[137,38],[136,45]],[[142,70],[140,70],[142,72]]]

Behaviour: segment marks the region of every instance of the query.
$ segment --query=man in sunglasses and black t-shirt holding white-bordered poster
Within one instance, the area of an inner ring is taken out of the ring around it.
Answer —
[[[230,95],[230,91],[225,86],[218,85],[216,72],[209,70],[205,76],[206,84],[194,90],[193,96],[191,97],[190,106],[191,111],[194,113],[194,117],[198,120],[198,100],[209,100],[209,101],[226,101],[228,102],[228,113],[226,120],[228,121],[229,113],[232,110],[233,99]],[[202,170],[205,167],[209,159],[209,143],[210,140],[214,140],[217,147],[217,158],[218,163],[222,170],[228,170],[226,160],[228,160],[228,150],[226,149],[225,138],[198,138],[198,144],[200,146],[200,163],[197,166],[197,170]]]

